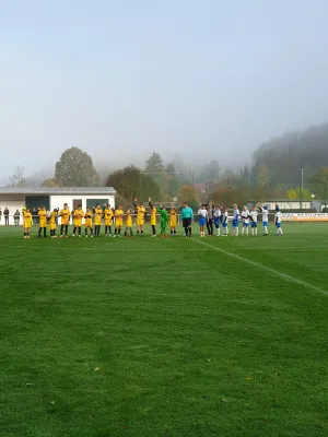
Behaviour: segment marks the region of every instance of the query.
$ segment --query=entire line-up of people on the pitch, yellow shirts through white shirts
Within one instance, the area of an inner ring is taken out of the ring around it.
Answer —
[[[150,224],[152,226],[152,236],[156,236],[156,214],[159,213],[161,216],[161,235],[166,235],[166,226],[169,225],[171,235],[176,235],[176,226],[177,226],[177,211],[174,205],[171,206],[169,213],[165,210],[164,205],[160,205],[156,208],[151,202],[151,198],[149,198],[149,206],[151,209],[150,214]],[[248,235],[249,225],[251,227],[251,235],[257,235],[257,223],[258,223],[258,209],[262,213],[262,225],[265,235],[268,235],[268,215],[269,210],[268,206],[262,205],[254,205],[251,211],[249,212],[247,206],[243,206],[242,214],[239,213],[237,204],[233,205],[233,236],[238,236],[239,233],[239,218],[243,221],[243,231],[242,235]],[[50,213],[48,227],[50,231],[50,236],[56,238],[56,228],[57,228],[57,217],[61,217],[61,226],[60,226],[60,237],[68,237],[68,227],[69,227],[69,220],[70,216],[73,215],[73,236],[78,235],[81,236],[81,228],[82,228],[82,218],[85,220],[85,236],[87,237],[89,234],[91,237],[93,235],[99,236],[102,221],[105,221],[105,236],[112,236],[112,226],[114,225],[114,237],[121,236],[121,228],[124,216],[126,216],[126,229],[125,236],[128,234],[130,236],[133,235],[132,231],[132,216],[133,214],[137,215],[137,235],[143,236],[143,226],[144,226],[144,217],[147,214],[147,210],[144,204],[141,202],[139,205],[137,204],[137,199],[133,202],[133,209],[128,208],[126,213],[122,211],[121,205],[119,205],[116,210],[113,210],[110,205],[107,205],[105,209],[102,209],[99,204],[97,204],[93,210],[90,208],[86,209],[84,213],[81,205],[78,205],[78,209],[74,210],[72,213],[68,209],[68,204],[63,205],[62,210],[55,209]],[[222,208],[220,205],[214,206],[212,203],[209,205],[203,204],[199,211],[199,226],[200,226],[200,236],[204,237],[204,228],[207,227],[208,234],[211,236],[213,235],[214,226],[216,228],[216,236],[227,236],[229,235],[229,214],[227,209]],[[24,238],[30,238],[30,228],[32,225],[32,215],[28,209],[23,209],[23,217],[24,217]],[[47,211],[43,206],[38,211],[39,217],[39,229],[38,229],[38,237],[42,237],[42,234],[46,237],[47,236]],[[94,217],[94,229],[93,229],[93,217]],[[185,236],[191,236],[191,222],[194,220],[192,210],[187,205],[187,203],[183,204],[181,209],[181,218],[183,225],[185,228]],[[277,235],[283,235],[281,229],[281,212],[279,206],[276,206],[276,216],[274,216],[276,227],[277,227]],[[222,234],[220,231],[222,227]]]

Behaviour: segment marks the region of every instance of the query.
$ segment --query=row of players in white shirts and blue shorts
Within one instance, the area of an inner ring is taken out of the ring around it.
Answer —
[[[268,222],[269,222],[269,209],[267,205],[254,204],[251,210],[249,211],[246,205],[243,206],[242,213],[238,210],[238,205],[235,203],[233,205],[233,220],[232,220],[232,236],[237,237],[239,235],[239,220],[242,218],[243,227],[242,235],[248,236],[249,226],[251,227],[251,235],[257,236],[257,224],[258,224],[258,214],[259,211],[262,213],[262,225],[263,225],[263,235],[267,236],[268,232]],[[276,234],[283,235],[281,228],[281,211],[278,205],[276,205],[276,214],[274,214],[274,224],[276,224]],[[216,228],[216,236],[227,236],[229,235],[229,214],[225,208],[220,205],[214,206],[212,203],[209,205],[202,204],[202,206],[198,211],[198,223],[200,228],[200,237],[204,237],[206,227],[208,229],[208,234],[213,235],[213,228]],[[223,228],[223,233],[221,234],[220,226]]]

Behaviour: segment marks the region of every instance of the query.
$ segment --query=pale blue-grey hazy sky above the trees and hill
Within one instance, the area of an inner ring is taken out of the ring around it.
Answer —
[[[0,174],[226,161],[328,121],[327,0],[0,0]]]

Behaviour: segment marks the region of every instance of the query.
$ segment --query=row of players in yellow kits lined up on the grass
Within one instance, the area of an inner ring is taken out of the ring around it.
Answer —
[[[126,217],[126,228],[125,236],[130,235],[133,236],[133,215],[137,215],[137,235],[143,236],[143,227],[144,220],[147,215],[147,209],[143,202],[137,204],[138,199],[136,198],[133,201],[133,208],[128,206],[127,211],[122,210],[121,205],[118,205],[116,210],[112,209],[110,205],[106,205],[105,209],[101,208],[101,204],[97,203],[94,209],[86,208],[84,212],[82,210],[82,205],[79,204],[78,208],[71,212],[68,208],[68,204],[65,203],[61,210],[55,209],[50,216],[47,217],[47,210],[45,206],[42,206],[38,211],[38,237],[42,236],[47,237],[47,227],[50,231],[50,237],[57,238],[56,229],[57,229],[57,218],[61,218],[60,224],[60,238],[68,238],[68,229],[69,222],[71,215],[73,216],[73,237],[77,235],[81,237],[82,232],[82,220],[84,218],[84,228],[85,228],[85,237],[89,235],[99,236],[101,226],[104,220],[105,223],[105,236],[106,237],[121,237],[121,229],[124,226],[124,217]],[[156,208],[151,198],[149,198],[149,206],[150,206],[150,224],[152,226],[152,236],[156,236],[156,215],[161,216],[161,235],[166,235],[166,227],[169,225],[171,235],[176,235],[176,226],[177,226],[177,210],[174,205],[171,206],[169,212],[165,210],[164,205],[161,204]],[[23,211],[23,220],[24,220],[24,238],[30,237],[30,231],[32,227],[32,214],[28,208],[24,208]],[[114,229],[113,229],[114,227]],[[112,231],[114,233],[112,234]]]

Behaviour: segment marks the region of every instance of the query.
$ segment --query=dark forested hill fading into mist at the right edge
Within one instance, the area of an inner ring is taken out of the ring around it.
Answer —
[[[289,132],[254,152],[253,175],[265,174],[270,185],[300,185],[300,168],[307,178],[328,167],[328,123],[303,132]]]

